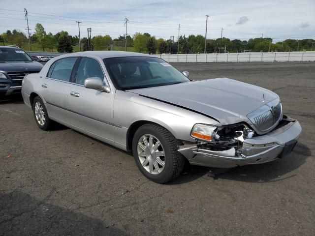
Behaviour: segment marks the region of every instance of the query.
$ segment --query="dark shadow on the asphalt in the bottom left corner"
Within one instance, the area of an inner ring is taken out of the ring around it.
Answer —
[[[39,201],[32,196],[13,191],[0,194],[0,234],[17,235],[127,235],[113,224],[82,213],[47,204],[55,193]]]

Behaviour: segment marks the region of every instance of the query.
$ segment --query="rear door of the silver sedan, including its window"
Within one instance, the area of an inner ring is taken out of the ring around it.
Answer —
[[[78,58],[69,57],[55,61],[41,82],[42,94],[48,115],[61,123],[69,123],[67,96],[74,64]]]

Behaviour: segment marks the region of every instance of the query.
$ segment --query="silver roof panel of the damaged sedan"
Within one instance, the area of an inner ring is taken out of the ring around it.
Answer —
[[[123,51],[87,51],[67,54],[67,56],[98,56],[102,59],[105,58],[120,58],[120,57],[154,57],[153,55],[144,53],[132,53]]]

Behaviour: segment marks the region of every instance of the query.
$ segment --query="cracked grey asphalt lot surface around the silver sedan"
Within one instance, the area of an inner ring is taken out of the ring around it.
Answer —
[[[174,63],[277,92],[303,133],[286,158],[208,177],[149,181],[130,153],[62,125],[40,130],[21,97],[0,101],[0,235],[315,235],[315,63]],[[246,93],[246,91],[243,91]],[[227,101],[228,102],[228,101]]]

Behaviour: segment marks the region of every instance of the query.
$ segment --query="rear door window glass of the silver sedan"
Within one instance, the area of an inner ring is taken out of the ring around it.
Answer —
[[[64,58],[55,61],[49,68],[47,77],[70,81],[71,71],[77,58]]]

